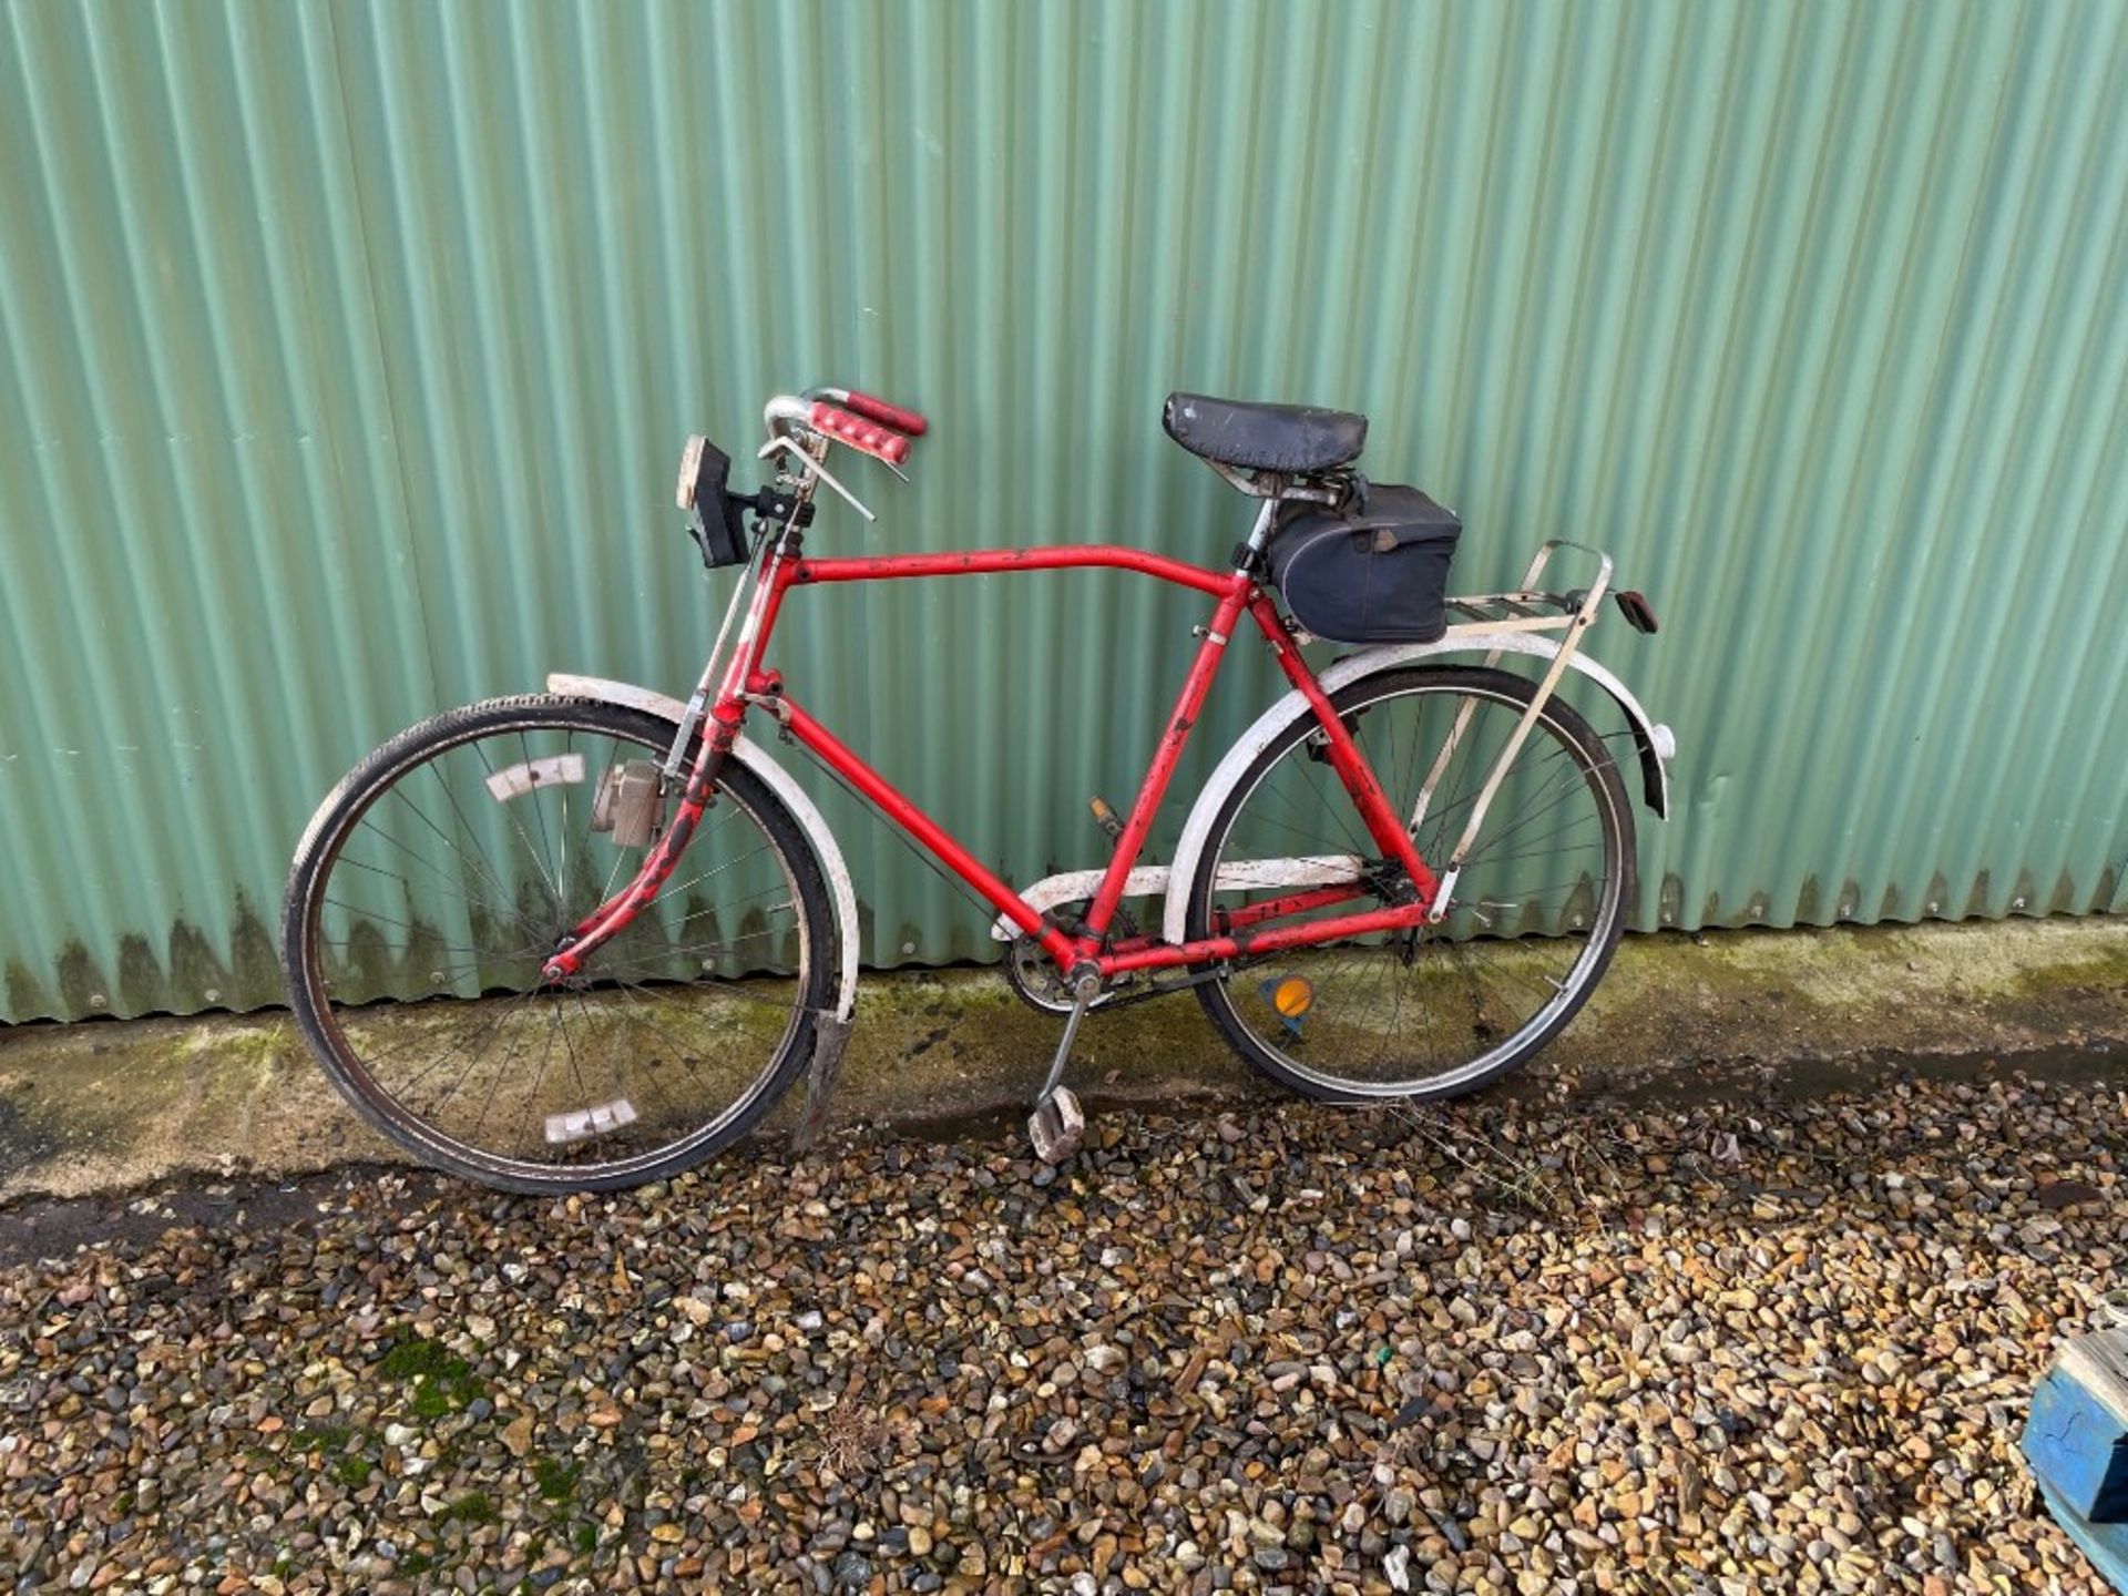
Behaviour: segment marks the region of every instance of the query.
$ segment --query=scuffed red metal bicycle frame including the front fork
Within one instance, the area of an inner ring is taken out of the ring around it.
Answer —
[[[704,758],[696,760],[696,772],[681,796],[672,824],[645,858],[634,881],[630,881],[615,898],[592,911],[577,926],[566,945],[549,958],[549,979],[575,975],[592,949],[619,932],[636,915],[636,911],[655,898],[664,887],[672,868],[679,864],[679,855],[692,841],[702,811],[709,807],[717,770],[721,768],[724,755],[738,738],[738,730],[745,724],[749,706],[760,706],[772,713],[783,730],[817,753],[828,768],[849,781],[849,785],[862,792],[883,815],[887,815],[887,819],[930,849],[947,870],[979,892],[1000,915],[1041,943],[1043,951],[1047,951],[1064,972],[1092,966],[1098,970],[1102,981],[1109,981],[1130,970],[1207,964],[1245,953],[1270,953],[1285,947],[1330,943],[1343,936],[1407,930],[1426,921],[1439,892],[1434,872],[1428,870],[1426,862],[1419,858],[1404,821],[1390,809],[1390,800],[1383,794],[1381,783],[1375,779],[1375,772],[1368,768],[1366,755],[1360,751],[1345,724],[1330,709],[1330,700],[1315,681],[1315,672],[1309,670],[1307,660],[1300,658],[1292,630],[1247,570],[1221,575],[1217,570],[1207,570],[1204,566],[1192,566],[1181,560],[1168,560],[1164,555],[1145,553],[1143,549],[1124,549],[1115,545],[972,549],[966,553],[913,553],[855,560],[807,560],[798,553],[785,555],[785,549],[792,545],[796,545],[796,536],[785,532],[777,538],[777,545],[768,555],[768,568],[753,592],[745,626],[738,634],[738,645],[732,651],[732,660],[726,666],[724,681],[702,728],[702,741],[706,745]],[[834,732],[794,702],[783,689],[783,677],[775,670],[764,670],[762,658],[766,655],[768,641],[775,634],[777,619],[783,611],[783,598],[792,587],[834,581],[907,581],[915,577],[987,577],[1013,570],[1090,568],[1134,570],[1156,577],[1158,581],[1175,583],[1177,587],[1192,587],[1215,598],[1217,604],[1213,606],[1211,621],[1200,628],[1202,643],[1198,645],[1196,660],[1190,664],[1190,675],[1183,681],[1173,713],[1168,715],[1160,745],[1153,749],[1153,760],[1145,772],[1145,781],[1141,783],[1138,796],[1130,807],[1130,815],[1124,819],[1121,836],[1109,858],[1100,887],[1094,894],[1077,932],[1066,932],[1045,921],[1026,898],[1021,898],[979,858],[962,847],[951,832],[926,815],[860,753],[855,753],[849,745],[834,736]],[[1264,643],[1268,643],[1273,655],[1277,655],[1285,679],[1300,692],[1309,709],[1315,711],[1315,721],[1321,728],[1326,743],[1324,753],[1330,768],[1351,796],[1353,807],[1360,811],[1360,817],[1383,858],[1404,868],[1415,887],[1413,898],[1404,904],[1368,909],[1364,913],[1332,915],[1328,919],[1253,930],[1253,926],[1264,919],[1307,909],[1324,909],[1353,898],[1360,892],[1356,887],[1332,885],[1232,911],[1224,917],[1226,930],[1219,936],[1204,936],[1192,943],[1166,943],[1151,936],[1115,941],[1109,936],[1109,926],[1115,921],[1117,904],[1124,898],[1124,883],[1145,847],[1153,817],[1160,813],[1168,783],[1175,777],[1175,766],[1190,741],[1190,732],[1198,724],[1213,677],[1219,675],[1219,662],[1226,658],[1228,643],[1232,641],[1243,613],[1256,621]]]

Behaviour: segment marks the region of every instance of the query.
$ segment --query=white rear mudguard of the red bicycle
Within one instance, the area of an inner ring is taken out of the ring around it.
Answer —
[[[1373,677],[1381,670],[1396,670],[1398,666],[1430,660],[1439,653],[1494,651],[1528,653],[1539,660],[1551,660],[1558,655],[1560,645],[1541,632],[1451,632],[1439,643],[1396,643],[1349,653],[1324,670],[1317,681],[1326,694],[1334,694],[1362,677]],[[1611,694],[1611,698],[1617,700],[1617,706],[1626,711],[1626,719],[1632,724],[1632,738],[1641,747],[1641,779],[1647,794],[1647,807],[1653,809],[1658,817],[1668,819],[1670,777],[1668,770],[1664,770],[1664,762],[1677,753],[1677,738],[1670,734],[1670,728],[1649,719],[1647,711],[1641,709],[1641,700],[1626,689],[1626,683],[1590,660],[1585,653],[1573,653],[1566,664],[1583,677],[1594,679],[1607,694]],[[1204,789],[1190,809],[1190,819],[1183,821],[1181,843],[1175,845],[1175,862],[1168,866],[1166,907],[1160,924],[1160,934],[1166,941],[1181,943],[1185,936],[1185,924],[1190,917],[1190,881],[1196,877],[1198,858],[1204,853],[1204,838],[1211,834],[1211,824],[1217,819],[1221,804],[1226,804],[1234,787],[1241,785],[1241,779],[1264,749],[1268,749],[1294,721],[1313,721],[1313,717],[1315,711],[1309,709],[1309,702],[1298,689],[1285,694],[1285,698],[1256,717],[1256,724],[1241,734],[1234,747],[1226,751],[1226,758],[1219,760],[1219,766],[1204,781]]]

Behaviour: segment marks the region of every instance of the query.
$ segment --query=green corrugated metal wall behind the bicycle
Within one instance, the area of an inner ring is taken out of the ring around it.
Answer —
[[[2124,149],[2098,0],[9,4],[4,1017],[272,1000],[362,751],[551,666],[685,689],[679,438],[807,381],[936,419],[821,549],[1217,558],[1170,385],[1368,411],[1468,585],[1611,547],[1666,626],[1598,653],[1683,749],[1643,926],[2105,909]],[[1194,609],[821,592],[783,664],[1026,877],[1098,862]],[[987,949],[830,813],[870,958]]]

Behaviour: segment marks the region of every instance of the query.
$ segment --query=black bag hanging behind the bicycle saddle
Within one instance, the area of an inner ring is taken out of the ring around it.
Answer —
[[[1270,534],[1285,609],[1330,643],[1432,643],[1449,628],[1462,521],[1417,487],[1368,483],[1358,511],[1307,506]]]

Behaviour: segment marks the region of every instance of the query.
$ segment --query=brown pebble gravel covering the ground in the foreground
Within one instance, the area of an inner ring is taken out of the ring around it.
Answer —
[[[1100,1115],[0,1268],[15,1590],[2098,1590],[2128,1090]],[[1017,1143],[1013,1143],[1017,1147]],[[13,1224],[17,1243],[23,1215]]]

